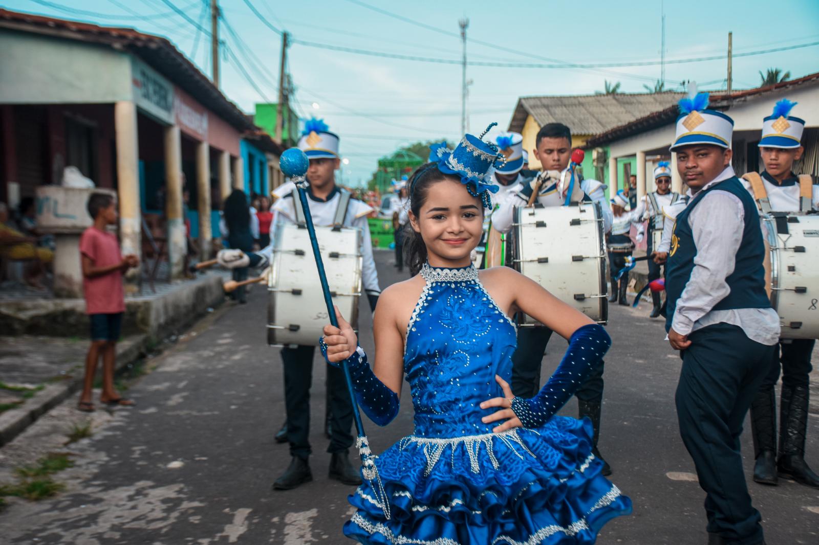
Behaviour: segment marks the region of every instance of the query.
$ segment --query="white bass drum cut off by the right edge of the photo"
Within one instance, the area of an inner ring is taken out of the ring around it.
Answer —
[[[765,282],[782,339],[819,338],[819,215],[762,215]]]

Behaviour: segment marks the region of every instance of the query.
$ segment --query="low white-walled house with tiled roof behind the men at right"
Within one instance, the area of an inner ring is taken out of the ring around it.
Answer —
[[[769,115],[774,103],[782,97],[799,103],[799,112],[805,119],[802,144],[805,151],[802,160],[795,166],[796,173],[819,175],[819,73],[803,78],[768,85],[745,91],[712,92],[709,108],[725,111],[734,119],[734,157],[731,164],[738,176],[746,172],[758,172],[759,135],[762,119]],[[654,180],[647,177],[660,160],[670,160],[672,170],[672,191],[683,190],[682,181],[676,169],[676,156],[668,152],[674,140],[674,129],[679,110],[668,106],[649,115],[634,119],[626,124],[610,128],[605,133],[586,140],[586,150],[605,150],[609,160],[609,173],[615,162],[631,161],[636,164],[638,199],[646,192],[654,191]],[[586,156],[591,155],[589,153]],[[622,178],[604,178],[609,187],[614,187]]]

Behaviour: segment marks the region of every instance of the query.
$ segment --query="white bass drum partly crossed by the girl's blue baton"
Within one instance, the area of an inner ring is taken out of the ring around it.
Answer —
[[[358,323],[361,295],[361,231],[315,227],[333,304]],[[280,223],[274,234],[268,276],[267,342],[271,346],[318,346],[329,317],[307,229]]]

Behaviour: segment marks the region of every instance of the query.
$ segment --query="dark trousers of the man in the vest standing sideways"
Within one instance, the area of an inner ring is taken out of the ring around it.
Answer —
[[[751,505],[740,455],[745,413],[775,358],[740,327],[718,323],[694,331],[681,353],[676,388],[680,435],[705,491],[708,532],[728,543],[762,542],[759,511]]]

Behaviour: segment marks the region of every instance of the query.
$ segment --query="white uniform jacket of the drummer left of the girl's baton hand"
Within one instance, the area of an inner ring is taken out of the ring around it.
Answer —
[[[296,191],[295,185],[292,186],[292,191]],[[291,193],[292,193],[291,191]],[[293,197],[298,198],[298,194],[287,194],[281,196],[276,200],[272,210],[275,213],[276,225],[282,222],[296,223],[296,210],[293,207]],[[316,200],[307,193],[307,202],[310,205],[310,215],[313,217],[313,224],[329,227],[333,225],[333,218],[336,215],[338,208],[338,200],[341,199],[341,193],[333,190],[333,196],[329,200]],[[369,223],[367,223],[367,214],[373,211],[373,208],[364,204],[360,200],[350,199],[350,204],[347,206],[347,214],[344,218],[345,227],[358,227],[361,229],[361,282],[364,284],[364,290],[372,295],[381,293],[381,288],[378,286],[378,272],[375,269],[375,261],[373,260],[373,241],[369,235]],[[275,228],[275,227],[274,227]],[[273,259],[273,244],[275,236],[271,236],[271,243],[265,249],[256,252],[262,254],[268,262]]]

